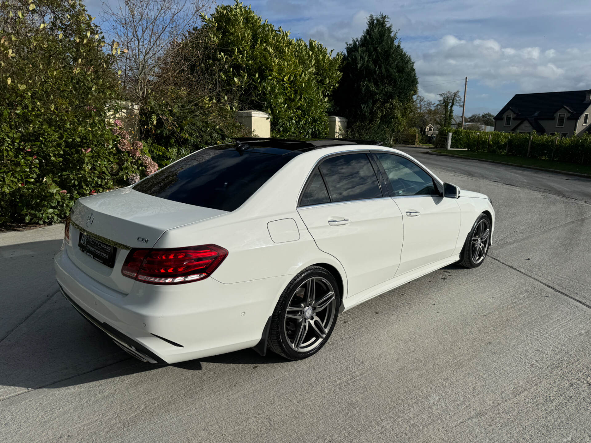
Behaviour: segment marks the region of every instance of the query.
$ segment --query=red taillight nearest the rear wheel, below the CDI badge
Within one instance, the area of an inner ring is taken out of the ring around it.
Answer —
[[[155,285],[174,285],[207,278],[228,251],[216,245],[177,249],[137,249],[129,251],[121,273],[126,277]]]

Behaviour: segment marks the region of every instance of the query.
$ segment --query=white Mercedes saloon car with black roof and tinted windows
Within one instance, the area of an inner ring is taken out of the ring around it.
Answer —
[[[495,211],[396,149],[241,138],[80,198],[55,258],[90,323],[140,360],[316,353],[339,314],[451,263],[479,266]]]

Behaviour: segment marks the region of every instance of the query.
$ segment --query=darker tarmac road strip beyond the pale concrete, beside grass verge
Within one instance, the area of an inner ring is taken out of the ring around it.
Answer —
[[[425,148],[398,147],[398,149],[417,158],[428,168],[436,168],[438,171],[453,172],[467,177],[485,178],[497,183],[591,202],[591,178],[553,174],[551,172],[499,165],[467,158],[450,158],[426,154]]]

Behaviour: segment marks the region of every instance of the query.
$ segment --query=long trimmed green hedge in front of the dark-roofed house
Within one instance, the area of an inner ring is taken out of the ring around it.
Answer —
[[[511,132],[452,131],[452,149],[527,157],[530,134]],[[591,165],[591,135],[557,138],[534,133],[530,158]]]

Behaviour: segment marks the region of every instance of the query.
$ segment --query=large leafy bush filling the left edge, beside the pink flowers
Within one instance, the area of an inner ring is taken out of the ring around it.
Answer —
[[[76,198],[145,173],[143,147],[118,150],[107,122],[119,49],[81,0],[3,1],[0,29],[0,223],[57,222]]]

